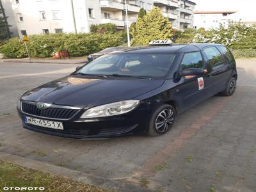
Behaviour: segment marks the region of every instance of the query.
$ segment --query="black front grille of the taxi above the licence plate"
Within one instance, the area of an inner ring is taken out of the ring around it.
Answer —
[[[28,115],[62,120],[68,120],[79,112],[79,109],[65,108],[47,108],[40,110],[35,106],[35,104],[29,104],[26,102],[21,102],[21,109],[23,113],[26,113]]]

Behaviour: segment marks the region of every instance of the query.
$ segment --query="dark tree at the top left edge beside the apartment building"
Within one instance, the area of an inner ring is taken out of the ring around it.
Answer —
[[[6,17],[4,13],[3,4],[0,0],[0,40],[11,37],[7,18],[8,17]]]

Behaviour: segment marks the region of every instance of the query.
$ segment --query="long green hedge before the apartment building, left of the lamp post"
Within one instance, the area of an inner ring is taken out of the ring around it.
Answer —
[[[84,56],[107,47],[124,44],[122,33],[79,33],[30,35],[27,43],[31,57],[51,57],[52,52],[68,50],[71,56]],[[0,47],[6,58],[27,57],[24,43],[19,38],[11,38]]]

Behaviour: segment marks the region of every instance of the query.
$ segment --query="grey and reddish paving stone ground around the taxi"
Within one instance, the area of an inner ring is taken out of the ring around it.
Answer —
[[[15,105],[28,88],[76,66],[0,63],[0,152],[121,180],[134,191],[256,191],[255,66],[256,59],[237,60],[235,95],[180,114],[161,137],[71,140],[23,129]]]

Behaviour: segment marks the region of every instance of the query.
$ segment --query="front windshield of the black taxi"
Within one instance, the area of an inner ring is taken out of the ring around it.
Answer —
[[[131,77],[164,77],[175,54],[106,54],[75,74]]]

